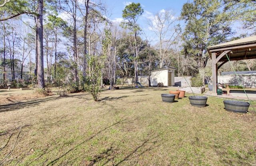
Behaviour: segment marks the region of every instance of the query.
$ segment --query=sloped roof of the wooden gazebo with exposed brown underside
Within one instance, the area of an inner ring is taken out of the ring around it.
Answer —
[[[237,39],[233,41],[228,41],[226,43],[221,43],[218,45],[213,45],[207,47],[208,53],[212,58],[212,53],[216,54],[216,58],[224,51],[227,51],[227,55],[230,61],[242,60],[242,59],[256,59],[256,36],[246,37],[243,39]],[[218,60],[219,62],[228,61],[226,56],[223,56]]]

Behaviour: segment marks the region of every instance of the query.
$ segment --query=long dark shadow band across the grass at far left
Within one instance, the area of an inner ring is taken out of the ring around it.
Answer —
[[[42,102],[48,102],[50,100],[55,99],[54,97],[50,98],[41,98],[41,99],[36,99],[36,100],[31,100],[31,101],[26,101],[26,102],[18,102],[14,104],[6,104],[6,105],[0,105],[0,112],[6,112],[6,111],[15,111],[20,108],[24,107],[34,107]]]

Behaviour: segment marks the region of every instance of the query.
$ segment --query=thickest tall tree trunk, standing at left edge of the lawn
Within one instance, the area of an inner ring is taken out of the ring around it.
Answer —
[[[38,18],[37,18],[37,51],[38,51],[38,88],[44,86],[44,52],[43,52],[43,0],[38,0]]]

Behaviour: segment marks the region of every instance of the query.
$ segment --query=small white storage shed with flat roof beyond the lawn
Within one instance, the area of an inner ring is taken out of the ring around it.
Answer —
[[[156,70],[150,70],[150,84],[157,86],[158,83],[163,83],[164,86],[174,86],[174,72],[176,68],[164,67]]]

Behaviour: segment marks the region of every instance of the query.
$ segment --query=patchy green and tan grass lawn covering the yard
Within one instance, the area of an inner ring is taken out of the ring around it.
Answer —
[[[162,102],[169,90],[176,88],[104,90],[99,102],[77,93],[2,103],[0,149],[8,144],[0,163],[10,154],[2,165],[256,165],[251,106],[247,114],[232,113],[224,99],[209,96],[206,107],[194,107],[192,94]]]

